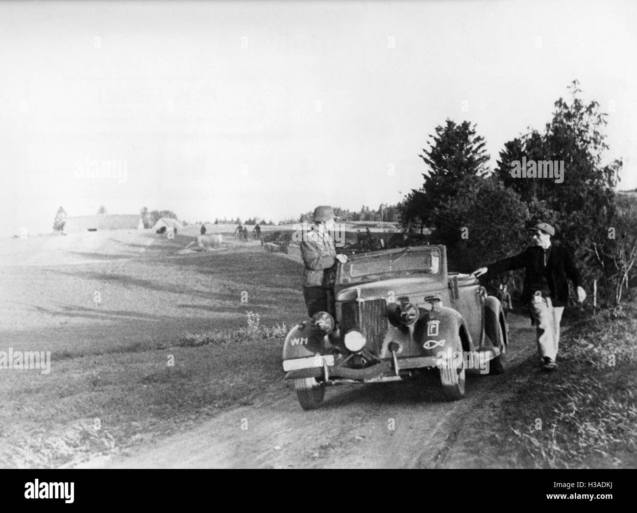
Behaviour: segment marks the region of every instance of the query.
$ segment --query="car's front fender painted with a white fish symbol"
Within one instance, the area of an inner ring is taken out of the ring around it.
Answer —
[[[447,348],[473,350],[464,318],[457,310],[446,306],[426,311],[415,327],[413,339],[426,356],[435,356]]]

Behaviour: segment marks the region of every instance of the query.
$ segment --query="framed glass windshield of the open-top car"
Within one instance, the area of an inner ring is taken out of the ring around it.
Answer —
[[[399,253],[380,253],[346,262],[341,266],[340,283],[346,285],[409,274],[438,274],[439,271],[438,248],[417,251],[404,249]]]

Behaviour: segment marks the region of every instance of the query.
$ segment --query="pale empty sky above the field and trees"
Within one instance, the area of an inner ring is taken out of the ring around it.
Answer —
[[[59,206],[194,222],[394,204],[446,118],[477,123],[493,167],[575,78],[635,188],[636,27],[631,0],[2,1],[0,234],[50,232]],[[82,176],[91,160],[125,180]]]

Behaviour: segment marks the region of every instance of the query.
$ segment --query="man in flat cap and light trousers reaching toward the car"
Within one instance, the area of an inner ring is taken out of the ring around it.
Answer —
[[[481,276],[489,272],[495,275],[524,267],[526,274],[522,302],[529,304],[531,318],[536,325],[542,369],[553,370],[557,367],[555,359],[559,344],[559,323],[564,306],[568,304],[567,278],[575,285],[580,303],[586,299],[586,292],[580,286],[580,271],[571,254],[565,248],[551,244],[555,229],[548,223],[538,223],[529,230],[533,245],[515,257],[503,258],[487,267],[480,267],[473,274]]]

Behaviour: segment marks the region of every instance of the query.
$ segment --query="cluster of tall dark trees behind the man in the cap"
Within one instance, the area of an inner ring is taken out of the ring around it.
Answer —
[[[543,130],[503,145],[494,169],[475,124],[436,127],[419,155],[424,182],[404,197],[401,223],[433,228],[431,242],[445,244],[450,266],[465,272],[519,253],[529,244],[527,227],[550,223],[554,240],[583,263],[589,293],[596,280],[601,299],[615,306],[637,279],[637,202],[615,193],[622,160],[605,160],[607,115],[583,101],[578,81],[568,90]],[[507,279],[516,286],[520,276]]]

